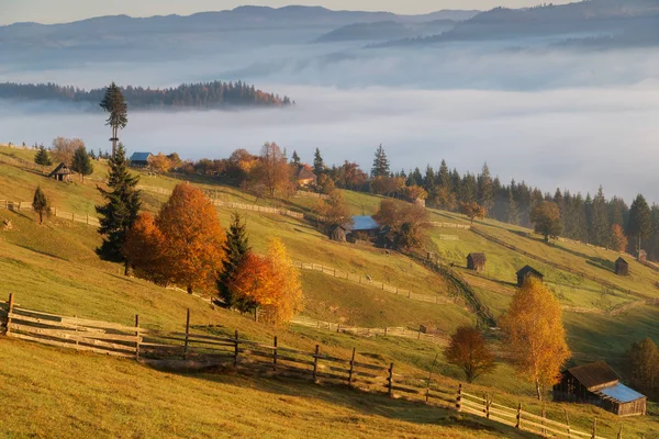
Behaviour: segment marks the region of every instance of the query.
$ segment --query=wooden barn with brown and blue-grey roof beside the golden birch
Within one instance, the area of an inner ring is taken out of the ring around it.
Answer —
[[[592,404],[618,416],[646,414],[646,396],[621,384],[603,361],[568,369],[554,386],[554,401]]]

